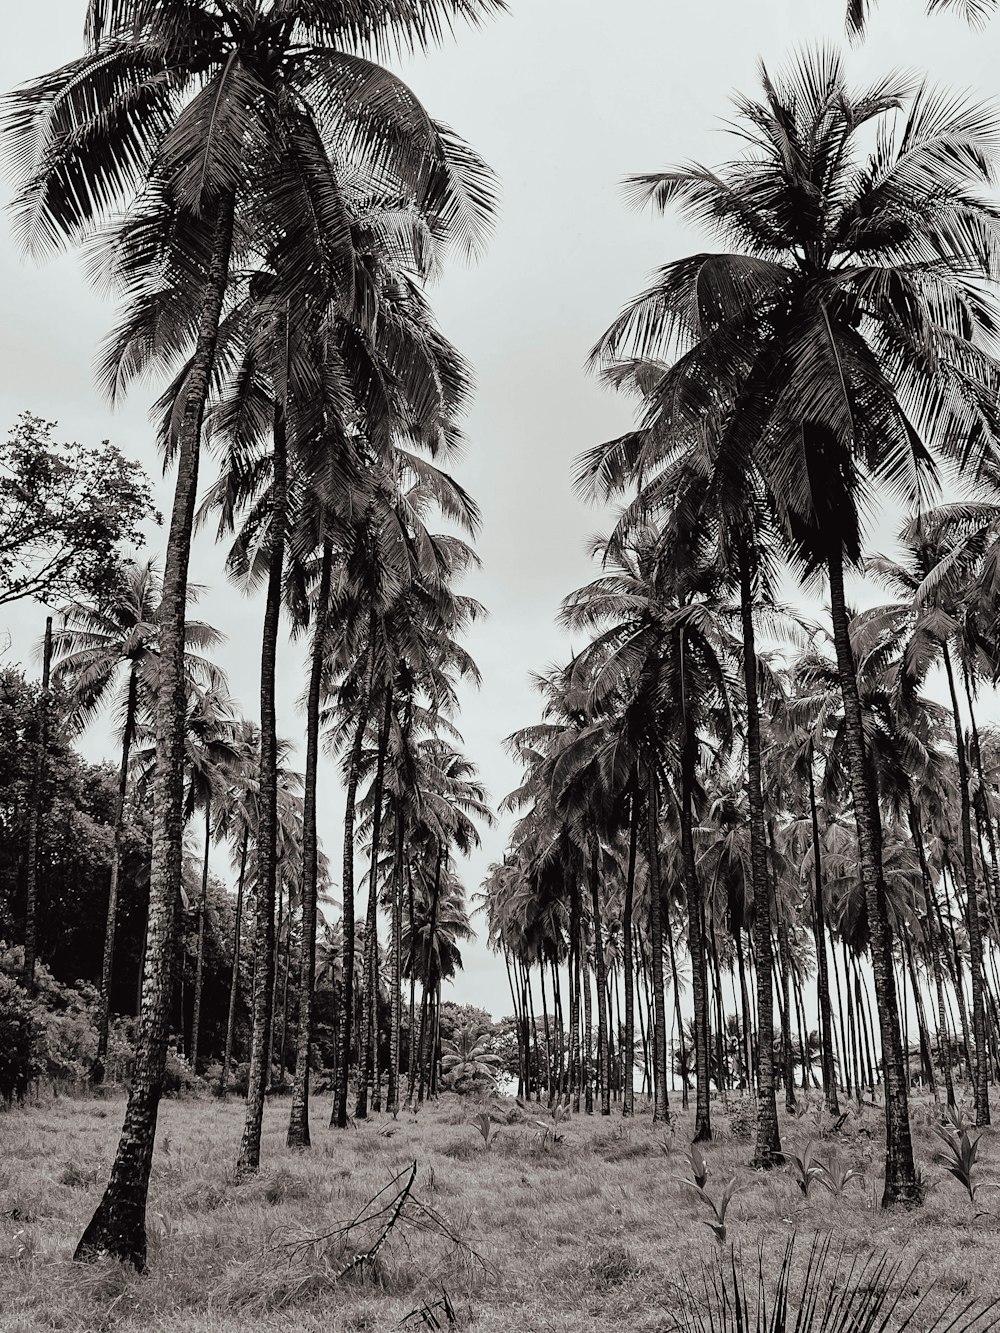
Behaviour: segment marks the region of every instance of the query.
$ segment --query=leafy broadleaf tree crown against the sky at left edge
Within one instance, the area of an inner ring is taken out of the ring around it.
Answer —
[[[0,605],[105,596],[143,520],[159,521],[145,473],[116,445],[57,443],[53,431],[24,412],[0,443]]]

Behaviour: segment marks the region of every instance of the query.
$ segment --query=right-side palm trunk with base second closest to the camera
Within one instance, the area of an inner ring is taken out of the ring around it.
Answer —
[[[764,784],[757,704],[757,648],[753,633],[753,572],[751,552],[740,560],[740,625],[743,631],[743,689],[747,696],[747,794],[751,812],[751,880],[753,886],[753,942],[757,954],[757,1142],[753,1165],[767,1168],[780,1160],[775,1101],[775,984],[771,957],[771,892],[764,824]],[[740,954],[743,981],[743,954]],[[744,1021],[744,1029],[747,1024]],[[744,1040],[749,1041],[749,1034]]]

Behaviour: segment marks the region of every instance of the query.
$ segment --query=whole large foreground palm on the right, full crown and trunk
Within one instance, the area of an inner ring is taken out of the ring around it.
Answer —
[[[1000,213],[983,197],[997,124],[988,108],[901,79],[855,92],[832,51],[800,56],[779,79],[764,72],[763,88],[760,100],[737,100],[739,160],[631,181],[637,203],[677,203],[727,251],[661,269],[596,357],[645,389],[643,429],[623,455],[708,431],[719,476],[745,492],[753,475],[787,549],[827,573],[884,1052],[883,1198],[913,1201],[881,821],[844,569],[860,559],[872,483],[916,503],[933,483],[931,449],[975,472],[1000,441],[987,285],[1000,275]]]

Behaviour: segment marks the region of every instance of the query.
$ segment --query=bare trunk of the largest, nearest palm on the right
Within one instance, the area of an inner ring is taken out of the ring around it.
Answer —
[[[883,1206],[888,1208],[892,1204],[919,1204],[920,1189],[913,1169],[908,1090],[903,1069],[899,1006],[892,970],[892,933],[881,864],[881,818],[876,780],[864,744],[861,700],[857,693],[855,657],[848,633],[844,564],[839,549],[829,555],[828,573],[837,674],[844,698],[848,777],[857,822],[859,869],[868,904],[872,973],[881,1033],[885,1078],[885,1186],[881,1201]]]

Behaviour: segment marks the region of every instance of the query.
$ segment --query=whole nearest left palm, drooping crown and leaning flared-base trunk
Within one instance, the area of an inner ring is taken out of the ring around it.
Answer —
[[[336,163],[360,157],[464,248],[483,237],[492,183],[479,159],[368,56],[436,44],[500,0],[89,0],[87,51],[5,108],[21,188],[19,237],[75,244],[125,212],[95,269],[128,311],[105,371],[117,388],[187,357],[171,420],[177,479],[164,569],[149,946],[139,1058],[108,1190],[77,1257],[145,1264],[145,1196],[167,1050],[181,857],[184,611],[199,447],[233,261],[280,248],[301,289],[355,281]]]

